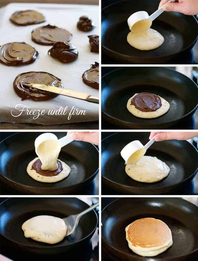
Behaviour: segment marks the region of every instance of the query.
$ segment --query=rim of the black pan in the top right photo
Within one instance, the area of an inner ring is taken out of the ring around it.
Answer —
[[[127,1],[131,1],[131,0],[123,0],[124,2],[127,2]],[[112,3],[104,8],[102,8],[101,10],[101,15],[102,15],[102,11],[104,11],[106,8],[108,8],[109,6],[112,6],[112,5],[116,5],[117,3],[121,3],[123,1],[119,1],[119,2],[116,2],[116,3]],[[141,0],[141,1],[144,1],[144,0]],[[155,1],[155,0],[150,0],[150,1]],[[174,13],[177,13],[177,12],[174,12]],[[185,15],[184,15],[185,16]],[[194,21],[197,23],[197,29],[198,29],[198,21],[197,19],[195,18],[194,15],[191,15],[191,17],[194,19]],[[102,23],[102,19],[101,19],[101,23]],[[196,39],[190,44],[188,45],[187,47],[185,47],[181,52],[175,52],[175,53],[172,53],[171,55],[178,55],[178,54],[181,54],[183,52],[185,52],[186,50],[188,50],[191,46],[195,45],[195,43],[197,42],[198,40],[198,30],[197,30],[197,37]],[[106,49],[107,51],[113,53],[113,54],[116,54],[116,55],[119,55],[119,56],[123,56],[123,57],[127,57],[127,58],[132,58],[132,57],[139,57],[139,56],[130,56],[130,55],[126,55],[126,54],[121,54],[121,53],[118,53],[116,51],[112,51],[111,49],[105,47],[101,41],[101,47]],[[192,48],[191,48],[192,49]],[[156,56],[156,57],[153,57],[153,59],[156,59],[156,58],[166,58],[166,57],[169,57],[170,55],[162,55],[162,56]],[[146,58],[146,59],[149,59],[150,56],[144,56],[143,58]]]

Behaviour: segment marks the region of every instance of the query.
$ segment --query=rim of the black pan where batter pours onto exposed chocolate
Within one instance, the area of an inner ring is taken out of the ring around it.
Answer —
[[[15,134],[11,134],[10,136],[8,136],[8,137],[6,137],[5,139],[3,139],[1,142],[0,142],[0,146],[1,146],[1,143],[3,143],[6,139],[8,139],[8,138],[10,138],[10,137],[13,137],[13,136],[15,136],[15,135],[17,135],[17,134],[20,134],[20,133],[22,133],[22,132],[17,132],[17,133],[15,133]],[[96,151],[98,152],[98,157],[99,157],[99,150],[98,150],[98,148],[96,148],[96,146],[93,144],[93,143],[90,143],[95,149],[96,149]],[[92,179],[92,177],[94,177],[95,175],[97,175],[97,173],[98,173],[98,171],[99,171],[99,166],[98,166],[98,168],[97,168],[97,170],[90,176],[90,177],[88,177],[88,178],[86,178],[85,180],[83,180],[82,182],[79,182],[79,183],[76,183],[76,184],[74,184],[74,185],[72,185],[72,186],[69,186],[69,187],[59,187],[59,188],[55,188],[55,189],[57,189],[57,190],[59,190],[59,189],[63,189],[63,188],[75,188],[76,186],[78,186],[78,185],[81,185],[81,184],[84,184],[84,183],[86,183],[87,181],[89,181],[90,179]],[[5,175],[3,175],[1,172],[0,172],[0,175],[4,178],[4,179],[6,179],[6,180],[8,180],[8,181],[10,181],[10,182],[12,182],[13,184],[17,184],[17,185],[19,185],[19,186],[23,186],[23,187],[26,187],[26,188],[32,188],[32,189],[35,189],[36,187],[32,187],[32,186],[29,186],[29,185],[24,185],[24,184],[22,184],[22,183],[18,183],[18,182],[15,182],[15,181],[13,181],[13,180],[10,180],[8,177],[6,177]],[[63,179],[64,180],[64,179]],[[58,181],[58,182],[61,182],[62,180],[60,180],[60,181]],[[38,181],[39,182],[39,181]],[[53,182],[53,183],[58,183],[58,182]],[[40,182],[41,183],[41,182]],[[42,182],[42,183],[44,183],[44,182]],[[53,184],[52,183],[52,184]],[[38,188],[38,187],[37,187]],[[53,189],[52,187],[41,187],[40,189],[46,189],[46,190],[51,190],[51,189]]]

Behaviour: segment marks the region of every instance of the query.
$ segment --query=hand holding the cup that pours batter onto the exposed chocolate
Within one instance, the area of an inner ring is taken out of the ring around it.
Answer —
[[[72,135],[72,138],[76,141],[86,141],[95,145],[99,144],[99,133],[98,132],[68,132]]]

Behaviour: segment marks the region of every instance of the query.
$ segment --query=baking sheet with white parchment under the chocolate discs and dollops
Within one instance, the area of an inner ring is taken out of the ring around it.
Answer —
[[[10,16],[15,11],[30,9],[43,13],[46,22],[37,25],[16,26],[9,21]],[[91,32],[82,32],[77,29],[77,22],[82,15],[89,16],[94,22],[96,27]],[[76,61],[63,64],[47,54],[51,46],[38,45],[31,40],[31,31],[47,24],[65,28],[73,34],[70,42],[76,45],[79,52]],[[90,52],[89,38],[87,37],[91,34],[98,35],[98,25],[98,6],[10,3],[4,8],[0,8],[0,45],[8,42],[26,42],[39,52],[36,61],[29,65],[14,67],[0,63],[0,122],[51,125],[98,120],[98,104],[63,95],[59,95],[47,101],[22,101],[13,89],[13,81],[19,73],[44,71],[59,77],[63,81],[64,88],[78,90],[98,97],[98,90],[87,86],[82,81],[83,72],[89,69],[90,65],[95,61],[98,62],[99,59],[98,54]],[[58,113],[57,110],[59,110],[61,106],[63,109]],[[30,112],[30,110],[35,111]],[[45,110],[44,115],[40,114],[42,110]],[[53,111],[54,115],[48,115],[49,110],[57,111],[56,115],[55,111]],[[73,115],[70,116],[69,113],[71,110]],[[63,112],[61,115],[61,111],[65,111],[65,115],[63,115]],[[33,113],[35,115],[33,115]]]

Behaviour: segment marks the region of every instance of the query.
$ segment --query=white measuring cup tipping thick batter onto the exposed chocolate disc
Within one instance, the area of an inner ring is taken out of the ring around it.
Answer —
[[[64,136],[61,139],[58,139],[57,136],[53,133],[49,133],[49,132],[43,133],[43,134],[39,135],[34,142],[35,151],[36,151],[37,155],[38,155],[37,150],[38,150],[39,145],[47,140],[58,141],[58,143],[61,145],[61,148],[73,141],[71,134]]]

